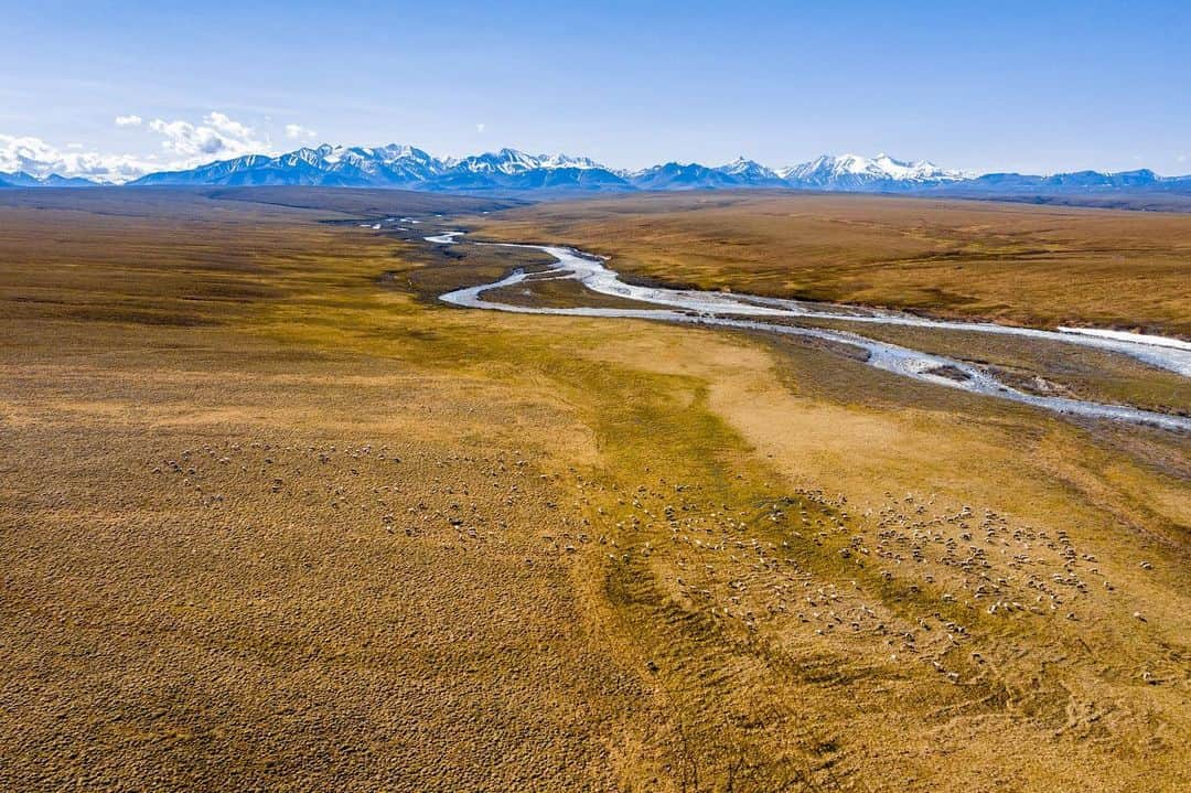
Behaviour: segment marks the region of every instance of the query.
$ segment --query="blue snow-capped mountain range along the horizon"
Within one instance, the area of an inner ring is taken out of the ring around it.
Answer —
[[[0,174],[0,187],[79,187],[81,179],[27,173]],[[823,155],[810,162],[769,168],[738,158],[724,166],[668,162],[619,170],[588,157],[531,155],[501,149],[469,157],[439,158],[409,145],[303,148],[287,154],[247,155],[197,168],[149,174],[130,186],[380,187],[447,192],[629,192],[715,188],[787,188],[865,193],[1079,193],[1125,189],[1191,192],[1191,176],[1162,177],[1151,170],[1118,174],[1079,171],[1053,176],[977,176],[928,161],[888,155]]]

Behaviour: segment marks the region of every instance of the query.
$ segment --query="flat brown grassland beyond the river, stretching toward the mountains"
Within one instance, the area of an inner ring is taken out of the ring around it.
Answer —
[[[698,192],[485,220],[476,225],[492,237],[611,255],[646,281],[1191,338],[1191,214]]]

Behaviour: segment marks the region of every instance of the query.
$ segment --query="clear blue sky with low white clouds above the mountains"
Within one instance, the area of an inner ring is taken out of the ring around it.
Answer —
[[[0,0],[0,171],[300,145],[1191,173],[1191,2]]]

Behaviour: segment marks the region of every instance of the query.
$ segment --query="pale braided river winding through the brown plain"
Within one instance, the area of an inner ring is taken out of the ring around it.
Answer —
[[[451,244],[461,232],[447,232],[426,241]],[[1043,331],[1029,327],[1011,327],[991,323],[962,323],[934,320],[915,317],[903,312],[881,311],[862,306],[840,306],[830,304],[807,304],[798,300],[762,298],[747,294],[729,294],[700,292],[697,289],[666,289],[660,287],[634,286],[621,281],[617,273],[609,269],[597,256],[582,254],[569,248],[553,245],[518,245],[505,243],[509,248],[541,250],[555,258],[551,268],[554,277],[572,279],[582,283],[594,293],[626,298],[638,302],[653,304],[660,308],[597,308],[597,307],[535,307],[513,306],[484,299],[484,293],[500,287],[512,286],[526,280],[524,270],[516,270],[493,283],[456,289],[439,296],[439,300],[467,308],[485,308],[522,314],[559,314],[567,317],[619,317],[632,319],[654,319],[661,321],[685,323],[693,325],[711,325],[718,327],[737,327],[759,330],[788,336],[803,336],[828,342],[848,344],[863,349],[868,354],[867,363],[912,380],[931,382],[947,388],[958,388],[969,393],[983,394],[997,399],[1008,399],[1070,416],[1083,416],[1098,419],[1114,419],[1146,424],[1174,431],[1191,431],[1191,419],[1179,416],[1167,416],[1153,411],[1127,407],[1123,405],[1103,405],[1064,396],[1043,396],[1029,394],[1008,386],[994,376],[962,361],[941,355],[931,355],[897,344],[878,342],[859,333],[829,330],[822,327],[797,327],[782,325],[773,319],[834,319],[854,321],[863,325],[905,325],[913,327],[931,327],[942,330],[961,330],[1003,336],[1016,336],[1030,339],[1058,341],[1066,344],[1090,346],[1128,355],[1147,364],[1176,371],[1191,377],[1191,345],[1179,339],[1139,336],[1133,333],[1096,333],[1086,329],[1064,329]],[[541,277],[541,276],[537,276]]]

